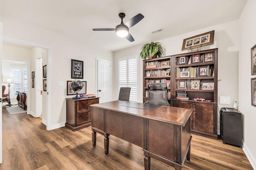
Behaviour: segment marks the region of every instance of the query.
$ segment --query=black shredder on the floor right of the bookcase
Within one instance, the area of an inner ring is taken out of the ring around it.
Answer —
[[[242,148],[243,114],[233,108],[220,109],[220,136],[224,144]]]

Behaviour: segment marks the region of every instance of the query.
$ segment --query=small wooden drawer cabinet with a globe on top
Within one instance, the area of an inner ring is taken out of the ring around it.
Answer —
[[[99,103],[99,97],[66,99],[66,123],[65,126],[73,131],[91,126],[92,110],[90,105]]]

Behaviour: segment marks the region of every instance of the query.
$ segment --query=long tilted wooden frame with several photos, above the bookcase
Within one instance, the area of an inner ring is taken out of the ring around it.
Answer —
[[[213,40],[214,40],[214,30],[210,32],[206,32],[204,34],[199,34],[197,36],[186,38],[183,40],[181,51],[213,44]]]

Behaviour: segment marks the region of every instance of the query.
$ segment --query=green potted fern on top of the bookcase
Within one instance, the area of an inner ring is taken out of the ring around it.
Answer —
[[[156,58],[164,55],[164,51],[160,42],[151,42],[142,45],[140,57],[142,59]]]

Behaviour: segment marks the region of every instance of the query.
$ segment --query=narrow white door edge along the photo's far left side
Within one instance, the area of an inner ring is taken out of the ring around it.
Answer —
[[[0,65],[2,68],[2,55],[3,55],[3,23],[0,22]],[[0,76],[1,76],[1,81],[0,81],[0,91],[2,91],[2,69],[0,69]],[[0,99],[1,99],[1,106],[2,106],[2,93],[0,93]],[[2,164],[3,159],[2,159],[2,108],[0,109],[0,164]]]

